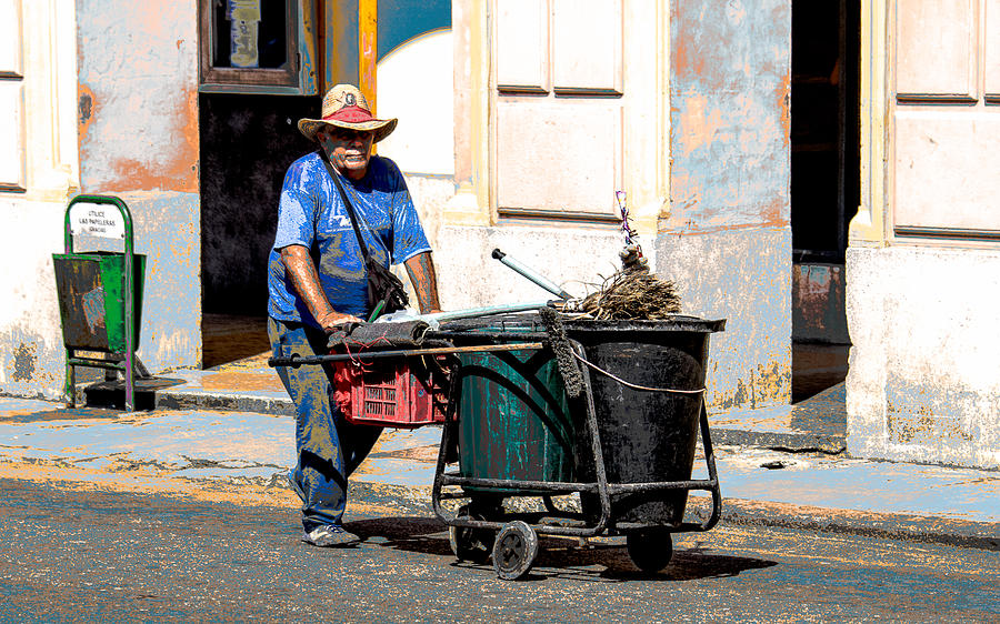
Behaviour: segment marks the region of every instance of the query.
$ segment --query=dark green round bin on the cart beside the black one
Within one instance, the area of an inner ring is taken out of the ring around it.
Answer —
[[[541,331],[536,321],[537,316],[523,315],[489,318],[480,320],[471,333],[502,325],[512,334],[509,342],[521,342],[517,339],[519,331]],[[462,329],[469,329],[469,322]],[[473,479],[576,481],[573,452],[582,424],[571,416],[552,353],[503,351],[462,353],[459,358],[459,473]],[[466,490],[471,493],[480,489]],[[518,496],[544,494],[497,487],[482,491]]]

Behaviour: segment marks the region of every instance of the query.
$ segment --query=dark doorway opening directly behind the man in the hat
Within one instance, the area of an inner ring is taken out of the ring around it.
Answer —
[[[270,350],[268,254],[288,167],[313,150],[319,97],[201,93],[202,365]]]

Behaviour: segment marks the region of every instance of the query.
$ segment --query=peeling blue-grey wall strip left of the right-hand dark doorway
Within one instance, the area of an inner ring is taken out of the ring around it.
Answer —
[[[684,309],[727,318],[708,395],[791,397],[789,0],[671,3],[670,213],[658,273]]]

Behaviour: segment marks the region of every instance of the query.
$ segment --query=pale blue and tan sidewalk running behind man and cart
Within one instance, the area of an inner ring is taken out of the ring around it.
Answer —
[[[263,356],[161,376],[173,385],[150,412],[0,397],[0,477],[298,504],[283,479],[291,402]],[[710,421],[723,522],[1000,550],[1000,472],[847,457],[842,385]],[[438,427],[387,430],[351,479],[352,504],[430,513],[439,440]],[[689,511],[707,507],[692,497]]]

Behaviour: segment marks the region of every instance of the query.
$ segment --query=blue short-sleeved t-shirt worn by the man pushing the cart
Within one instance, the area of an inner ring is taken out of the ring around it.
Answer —
[[[361,180],[341,175],[359,218],[368,252],[382,265],[406,262],[430,251],[407,182],[394,162],[371,157]],[[338,312],[362,319],[369,313],[368,271],[351,218],[319,153],[292,163],[278,205],[278,234],[268,259],[268,314],[280,321],[319,323],[284,274],[279,250],[300,244],[312,250],[320,284]],[[390,254],[391,251],[391,254]]]

